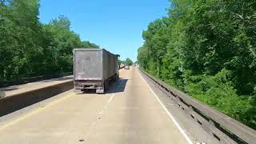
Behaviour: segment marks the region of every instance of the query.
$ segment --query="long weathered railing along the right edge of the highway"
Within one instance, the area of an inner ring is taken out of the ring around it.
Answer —
[[[256,143],[256,130],[167,85],[141,70],[156,86],[220,143]]]

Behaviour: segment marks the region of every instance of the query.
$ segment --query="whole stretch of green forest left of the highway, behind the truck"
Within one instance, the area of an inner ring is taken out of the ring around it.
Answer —
[[[66,16],[40,22],[39,6],[39,0],[0,0],[0,82],[71,72],[74,48],[98,48],[70,30]]]

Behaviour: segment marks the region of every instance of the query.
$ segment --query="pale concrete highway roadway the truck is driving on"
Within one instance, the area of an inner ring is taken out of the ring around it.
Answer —
[[[69,90],[0,118],[0,143],[214,143],[185,130],[137,68],[120,76],[106,94]]]

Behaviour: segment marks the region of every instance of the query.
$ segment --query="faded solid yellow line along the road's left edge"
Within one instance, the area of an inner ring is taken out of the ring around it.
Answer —
[[[8,122],[8,123],[6,123],[5,125],[0,126],[0,130],[5,129],[5,128],[8,127],[8,126],[14,125],[14,124],[17,123],[17,122],[21,122],[22,120],[24,120],[24,119],[26,119],[26,118],[29,118],[30,116],[32,116],[32,115],[34,115],[34,114],[37,114],[37,113],[39,113],[39,112],[42,111],[42,110],[46,110],[46,109],[49,108],[50,106],[54,106],[54,105],[58,104],[59,102],[62,102],[62,101],[64,101],[64,100],[66,100],[67,98],[70,98],[70,97],[73,96],[73,95],[74,95],[74,94],[66,95],[66,96],[63,97],[63,98],[60,98],[60,99],[58,99],[58,100],[56,100],[56,101],[54,101],[54,102],[50,102],[48,105],[46,105],[46,106],[44,106],[44,107],[40,107],[40,108],[38,108],[37,110],[34,110],[34,111],[30,112],[29,114],[26,114],[26,115],[24,115],[24,116],[22,116],[22,117],[20,117],[20,118],[18,118],[18,119],[15,119],[15,120],[12,121],[12,122]]]

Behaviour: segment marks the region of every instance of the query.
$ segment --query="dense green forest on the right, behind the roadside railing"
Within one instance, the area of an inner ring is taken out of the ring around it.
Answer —
[[[140,67],[256,129],[256,2],[170,0],[150,22]]]

